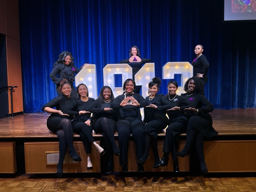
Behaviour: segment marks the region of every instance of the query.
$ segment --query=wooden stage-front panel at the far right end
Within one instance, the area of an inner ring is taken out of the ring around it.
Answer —
[[[208,172],[256,172],[256,141],[204,141]]]

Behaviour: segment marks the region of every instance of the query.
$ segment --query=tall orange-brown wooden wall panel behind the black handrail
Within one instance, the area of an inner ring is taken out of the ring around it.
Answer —
[[[6,36],[6,61],[8,86],[18,86],[13,92],[13,113],[23,111],[20,41]],[[9,114],[11,114],[11,92],[9,96]]]

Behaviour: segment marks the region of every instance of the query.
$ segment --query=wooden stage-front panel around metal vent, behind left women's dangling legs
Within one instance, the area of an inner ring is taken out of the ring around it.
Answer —
[[[100,144],[100,141],[96,141]],[[92,168],[87,170],[87,156],[83,142],[75,141],[74,147],[81,157],[82,161],[74,164],[63,164],[63,173],[69,172],[100,172],[100,154],[92,145]],[[26,173],[56,173],[57,164],[47,164],[46,154],[48,152],[58,152],[59,142],[26,142],[25,149],[25,166]],[[67,152],[67,155],[68,152]]]

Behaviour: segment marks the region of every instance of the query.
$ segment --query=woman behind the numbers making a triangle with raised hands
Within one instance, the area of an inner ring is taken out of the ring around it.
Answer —
[[[119,63],[127,63],[132,67],[132,79],[134,79],[135,74],[140,70],[142,64],[149,63],[151,60],[146,58],[141,58],[140,50],[137,46],[133,45],[129,51],[130,58],[121,60]],[[135,93],[140,94],[140,87],[137,86],[134,90]]]

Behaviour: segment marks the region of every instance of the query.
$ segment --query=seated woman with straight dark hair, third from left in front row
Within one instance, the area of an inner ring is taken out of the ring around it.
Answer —
[[[106,148],[108,151],[108,172],[113,172],[114,158],[113,154],[120,155],[120,150],[116,145],[114,133],[116,131],[117,113],[111,108],[111,103],[114,100],[112,89],[109,86],[103,86],[100,90],[100,95],[95,102],[93,102],[88,110],[95,114],[92,122],[92,128],[96,133],[102,133]]]

